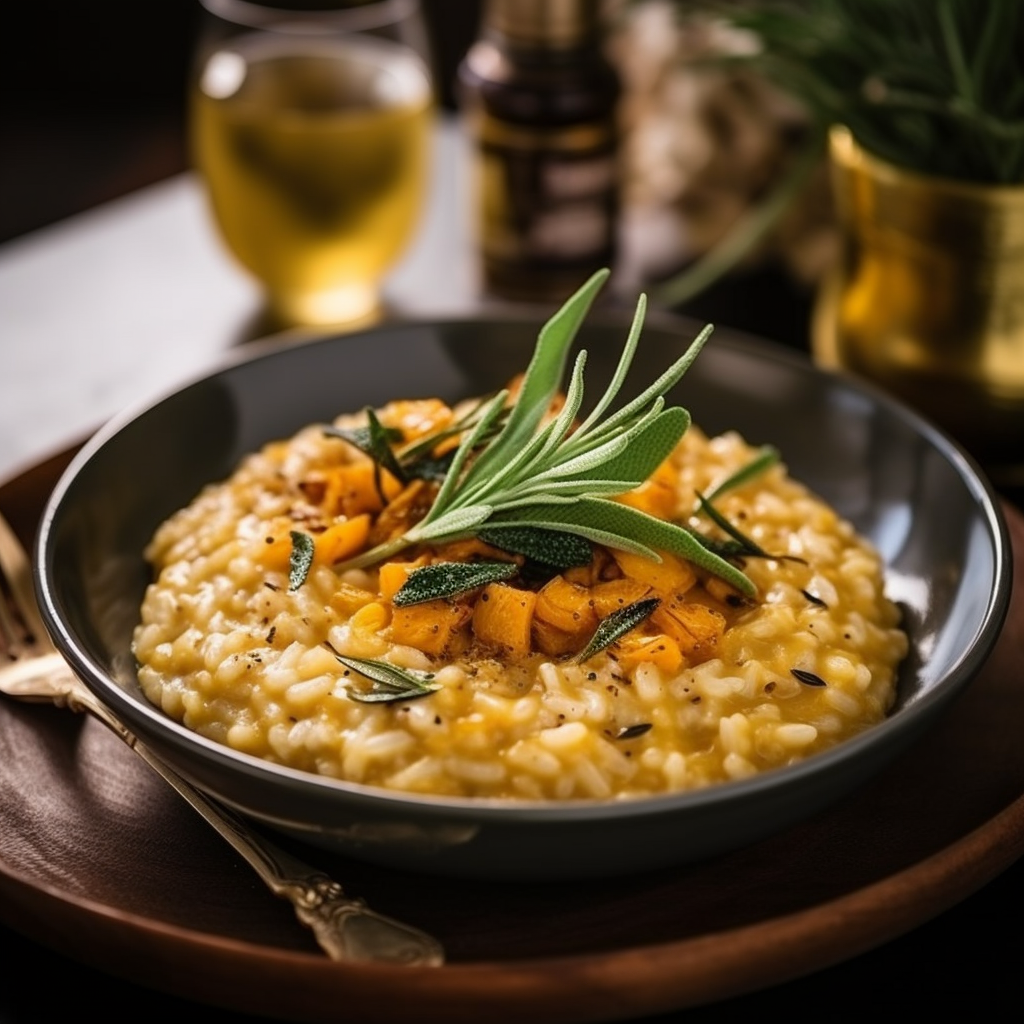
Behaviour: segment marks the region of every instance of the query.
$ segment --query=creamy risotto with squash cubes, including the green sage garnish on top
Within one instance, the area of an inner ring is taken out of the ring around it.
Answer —
[[[668,394],[711,328],[584,415],[572,339],[505,389],[310,424],[157,529],[146,697],[257,758],[404,793],[536,801],[695,790],[885,718],[907,650],[878,553],[780,454]]]

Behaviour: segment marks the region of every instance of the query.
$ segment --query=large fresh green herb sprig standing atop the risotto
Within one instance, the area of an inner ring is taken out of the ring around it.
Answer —
[[[646,312],[641,296],[615,373],[590,415],[577,424],[586,350],[577,356],[560,412],[549,414],[569,347],[607,278],[607,270],[595,273],[543,327],[511,410],[506,412],[506,390],[483,403],[427,514],[340,569],[376,564],[416,544],[473,537],[489,527],[541,527],[654,561],[660,561],[658,551],[667,550],[753,596],[751,580],[688,530],[613,500],[646,480],[689,427],[689,413],[666,408],[665,396],[711,336],[710,325],[646,390],[608,414],[639,343]]]

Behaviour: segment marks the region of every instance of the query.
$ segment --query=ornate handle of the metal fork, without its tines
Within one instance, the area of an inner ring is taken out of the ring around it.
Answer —
[[[329,876],[258,836],[233,811],[215,804],[181,778],[93,696],[60,654],[45,654],[5,667],[0,688],[22,700],[55,703],[99,719],[230,843],[271,892],[291,901],[296,916],[312,930],[332,959],[426,967],[443,963],[443,949],[434,938],[347,896]]]

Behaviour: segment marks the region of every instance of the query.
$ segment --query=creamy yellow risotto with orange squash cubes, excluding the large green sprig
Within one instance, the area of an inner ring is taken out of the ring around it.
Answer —
[[[458,412],[395,401],[376,411],[378,435],[444,438]],[[267,444],[157,530],[134,652],[146,696],[188,728],[394,791],[578,800],[751,776],[890,709],[907,640],[870,545],[783,461],[713,510],[696,500],[756,463],[740,436],[690,427],[613,500],[718,544],[746,593],[678,554],[597,543],[557,568],[478,536],[351,567],[439,486],[353,443],[367,423]],[[492,574],[402,600],[414,570],[437,563]]]

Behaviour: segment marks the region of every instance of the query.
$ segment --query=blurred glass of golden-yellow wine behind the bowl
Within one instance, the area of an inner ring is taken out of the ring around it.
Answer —
[[[418,226],[436,109],[419,0],[201,0],[193,160],[278,327],[356,326]]]

